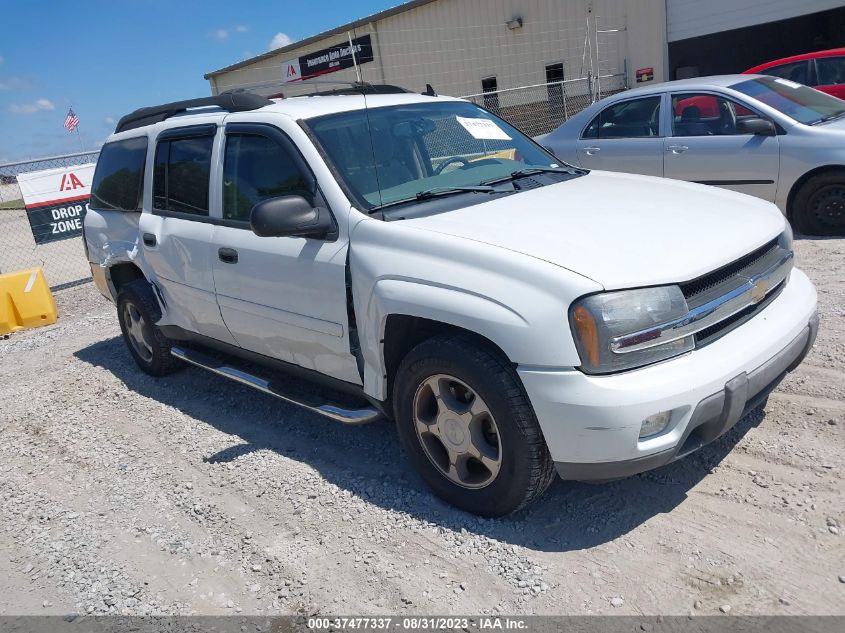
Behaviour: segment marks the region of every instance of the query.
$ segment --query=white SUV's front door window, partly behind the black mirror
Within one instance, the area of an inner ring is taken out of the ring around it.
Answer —
[[[312,202],[308,184],[290,154],[264,136],[229,134],[223,159],[223,217],[249,221],[256,204],[298,195]]]

